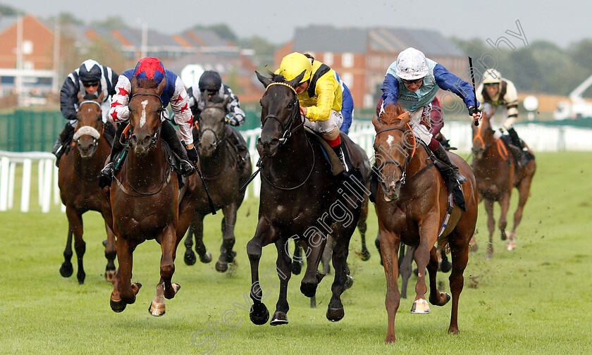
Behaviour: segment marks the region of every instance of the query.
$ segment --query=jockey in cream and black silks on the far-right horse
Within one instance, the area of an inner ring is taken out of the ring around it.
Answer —
[[[524,166],[528,163],[531,155],[513,127],[514,122],[518,119],[518,92],[514,83],[502,78],[498,70],[488,69],[483,74],[483,82],[476,89],[476,95],[477,99],[483,103],[483,114],[490,119],[491,127],[494,127],[493,137],[498,139],[502,137],[504,131],[507,131],[512,145],[517,147],[510,146],[509,148],[516,156],[518,166]],[[504,106],[505,120],[499,129],[495,129],[493,116],[498,106]]]

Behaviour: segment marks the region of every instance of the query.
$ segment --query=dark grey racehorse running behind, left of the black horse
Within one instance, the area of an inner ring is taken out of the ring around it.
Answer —
[[[208,97],[204,95],[204,101],[206,106],[199,116],[193,132],[194,141],[199,142],[197,144],[199,168],[207,181],[216,210],[222,208],[224,213],[222,219],[223,242],[220,247],[220,258],[216,262],[216,270],[223,273],[228,270],[228,263],[232,263],[236,255],[236,252],[233,251],[236,213],[245,197],[245,191],[239,192],[239,187],[249,179],[252,167],[248,156],[244,164],[240,163],[242,158],[238,156],[237,148],[228,139],[235,130],[228,125],[225,119],[224,108],[228,99],[216,103],[209,101]],[[242,138],[240,134],[239,137]],[[245,144],[244,141],[243,144]],[[211,261],[211,254],[206,251],[203,241],[204,216],[211,213],[211,209],[205,190],[201,188],[199,190],[200,194],[197,197],[193,220],[187,237],[185,237],[185,263],[187,265],[195,263],[195,253],[191,249],[192,235],[195,235],[195,250],[199,254],[199,260],[203,263]]]

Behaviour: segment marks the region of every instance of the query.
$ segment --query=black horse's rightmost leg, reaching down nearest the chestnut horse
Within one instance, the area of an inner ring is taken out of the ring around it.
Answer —
[[[344,228],[345,229],[345,228]],[[333,270],[335,270],[335,278],[331,286],[331,301],[327,307],[327,319],[332,322],[337,322],[343,316],[343,304],[341,303],[341,294],[347,288],[347,282],[351,281],[347,275],[347,254],[350,251],[350,237],[345,230],[341,230],[340,235],[333,235],[335,243],[333,244]]]

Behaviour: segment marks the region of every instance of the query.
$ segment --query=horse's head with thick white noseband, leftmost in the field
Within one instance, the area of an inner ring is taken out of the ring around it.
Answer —
[[[92,158],[99,146],[104,127],[101,111],[104,93],[101,92],[99,97],[87,94],[84,98],[78,94],[78,112],[76,113],[78,125],[73,139],[80,156],[84,159]]]

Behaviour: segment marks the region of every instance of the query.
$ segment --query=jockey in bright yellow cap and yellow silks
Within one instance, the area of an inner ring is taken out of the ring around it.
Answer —
[[[306,118],[304,125],[321,133],[343,163],[345,173],[348,173],[353,167],[341,142],[342,93],[335,72],[326,64],[297,52],[283,57],[280,68],[276,70],[276,74],[283,75],[287,81],[302,72],[304,77],[294,89],[300,101],[300,113]]]

